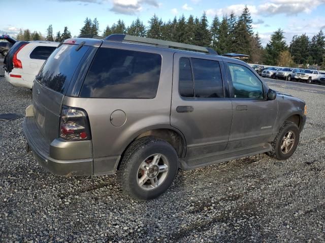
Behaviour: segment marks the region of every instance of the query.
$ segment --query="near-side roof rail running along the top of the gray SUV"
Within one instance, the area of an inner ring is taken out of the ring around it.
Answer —
[[[157,47],[180,48],[180,49],[204,52],[211,55],[218,55],[216,51],[208,47],[200,47],[200,46],[194,46],[189,44],[182,44],[178,42],[162,41],[161,39],[139,37],[139,36],[128,35],[128,34],[111,34],[107,36],[105,39],[107,41],[112,41],[112,42],[142,43],[142,44],[155,45]]]

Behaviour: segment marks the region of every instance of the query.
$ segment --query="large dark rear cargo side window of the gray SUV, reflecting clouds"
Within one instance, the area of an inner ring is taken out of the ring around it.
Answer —
[[[159,54],[100,48],[80,97],[152,99],[157,93],[160,69]]]

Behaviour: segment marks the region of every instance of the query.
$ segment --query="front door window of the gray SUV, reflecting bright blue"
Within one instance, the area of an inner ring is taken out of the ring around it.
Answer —
[[[247,67],[228,63],[232,81],[233,98],[264,99],[263,84]]]

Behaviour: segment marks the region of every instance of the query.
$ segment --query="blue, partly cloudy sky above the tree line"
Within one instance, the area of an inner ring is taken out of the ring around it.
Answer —
[[[295,34],[306,33],[311,38],[325,28],[325,0],[0,0],[0,34],[15,35],[28,28],[46,35],[52,24],[54,33],[68,26],[77,36],[86,17],[97,18],[102,33],[118,19],[129,25],[139,17],[148,25],[153,14],[168,21],[182,14],[201,17],[206,12],[211,23],[215,15],[220,19],[232,11],[240,15],[245,5],[253,19],[253,31],[259,33],[264,46],[278,28],[285,32],[287,43]]]

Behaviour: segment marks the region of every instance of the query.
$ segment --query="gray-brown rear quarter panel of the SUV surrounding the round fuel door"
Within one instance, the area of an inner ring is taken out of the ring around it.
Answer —
[[[118,43],[109,45],[112,48],[129,47]],[[94,158],[121,155],[127,145],[141,133],[151,129],[171,128],[173,52],[141,46],[129,50],[161,55],[161,73],[155,98],[103,99],[66,96],[63,101],[65,105],[83,108],[88,113]],[[116,110],[122,110],[126,114],[125,123],[120,127],[111,123],[111,114]]]

